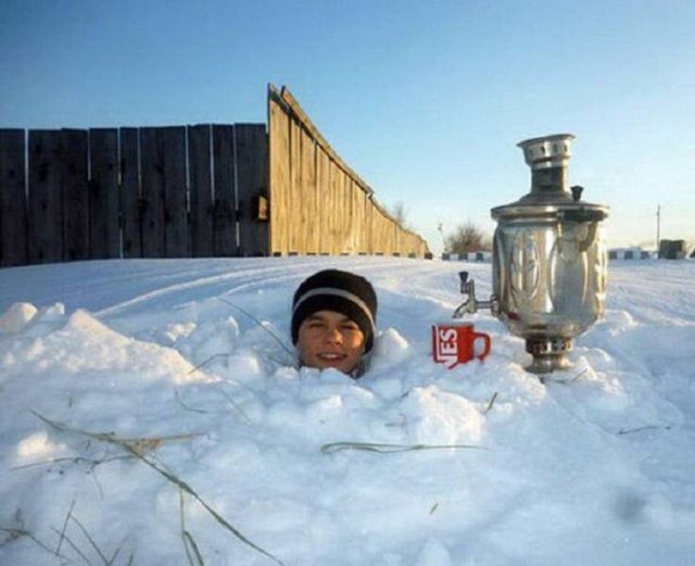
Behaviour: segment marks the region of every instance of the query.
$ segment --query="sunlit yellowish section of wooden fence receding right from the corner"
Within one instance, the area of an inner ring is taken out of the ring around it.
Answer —
[[[427,242],[379,205],[286,88],[268,87],[268,135],[271,254],[429,254]]]

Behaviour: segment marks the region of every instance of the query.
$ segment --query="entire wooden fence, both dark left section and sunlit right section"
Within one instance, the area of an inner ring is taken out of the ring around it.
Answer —
[[[111,257],[431,256],[287,89],[265,124],[0,129],[0,267]]]

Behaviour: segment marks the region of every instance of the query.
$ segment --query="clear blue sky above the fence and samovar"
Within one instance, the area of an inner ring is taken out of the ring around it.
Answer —
[[[441,251],[529,190],[516,143],[577,136],[611,247],[695,242],[692,0],[0,2],[0,127],[266,122],[287,85]]]

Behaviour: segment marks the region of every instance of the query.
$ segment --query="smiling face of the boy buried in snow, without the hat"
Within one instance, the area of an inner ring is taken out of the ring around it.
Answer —
[[[359,326],[334,311],[317,311],[300,326],[296,348],[305,366],[333,367],[350,374],[364,351],[365,335]]]

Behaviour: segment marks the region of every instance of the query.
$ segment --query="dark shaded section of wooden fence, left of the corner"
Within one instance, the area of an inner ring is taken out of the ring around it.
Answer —
[[[265,255],[265,124],[0,129],[0,266]]]

